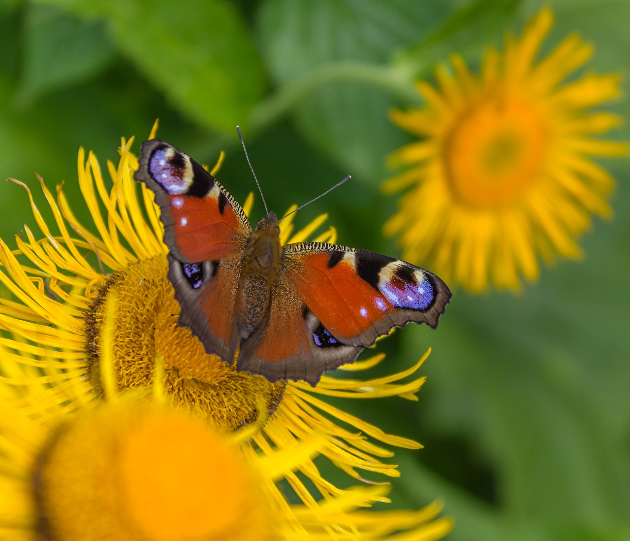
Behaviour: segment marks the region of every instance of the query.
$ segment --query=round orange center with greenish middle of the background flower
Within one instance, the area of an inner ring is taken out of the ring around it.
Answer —
[[[474,207],[518,199],[544,166],[548,129],[530,103],[500,88],[459,115],[447,136],[444,166],[455,197]]]

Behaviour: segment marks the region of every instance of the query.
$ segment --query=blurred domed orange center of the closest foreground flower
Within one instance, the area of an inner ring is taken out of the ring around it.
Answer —
[[[33,481],[42,538],[272,537],[272,508],[238,448],[204,422],[147,404],[109,404],[64,425]]]

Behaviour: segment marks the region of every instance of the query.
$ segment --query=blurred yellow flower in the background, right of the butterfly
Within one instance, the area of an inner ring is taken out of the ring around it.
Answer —
[[[553,25],[543,9],[520,39],[489,50],[476,76],[458,55],[437,88],[417,86],[427,104],[392,120],[421,141],[392,154],[411,165],[386,190],[411,189],[387,222],[404,259],[421,262],[449,284],[483,291],[520,288],[539,276],[539,258],[578,258],[591,214],[609,216],[613,179],[591,156],[621,156],[628,146],[594,138],[620,122],[589,109],[619,96],[617,74],[563,81],[592,55],[572,34],[536,61]]]

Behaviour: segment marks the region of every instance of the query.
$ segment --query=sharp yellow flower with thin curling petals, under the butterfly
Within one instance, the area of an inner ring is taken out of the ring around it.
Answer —
[[[11,293],[0,298],[0,383],[10,386],[13,403],[27,414],[40,411],[42,404],[71,412],[118,392],[149,388],[157,379],[178,407],[222,432],[255,422],[263,404],[268,422],[253,434],[253,443],[243,443],[251,452],[272,453],[274,446],[284,448],[323,434],[321,454],[355,479],[362,478],[357,470],[398,476],[396,465],[382,462],[392,451],[375,441],[413,449],[420,445],[333,407],[326,397],[417,400],[424,378],[415,373],[428,351],[403,373],[372,380],[324,375],[316,388],[270,383],[205,354],[190,330],[177,325],[180,307],[166,277],[168,249],[159,209],[152,192],[133,180],[138,163],[131,144],[123,140],[118,165],[108,162],[110,189],[96,157],[89,153],[86,160],[83,149],[79,151],[79,186],[96,234],[79,223],[60,187],[54,197],[40,179],[59,232],[51,231],[31,197],[41,235],[25,226],[24,234],[15,238],[16,250],[0,241],[0,282]],[[246,211],[251,203],[249,197]],[[325,219],[319,216],[297,233],[285,219],[282,242],[306,240]],[[334,239],[332,228],[317,237]],[[105,340],[103,321],[113,300],[114,329]],[[104,355],[112,358],[110,374],[102,370]],[[362,371],[383,358],[376,355],[345,369]],[[156,366],[162,367],[157,373]],[[297,469],[321,496],[343,493],[321,477],[309,457]],[[302,475],[287,472],[286,477],[305,503],[316,504],[317,496]]]

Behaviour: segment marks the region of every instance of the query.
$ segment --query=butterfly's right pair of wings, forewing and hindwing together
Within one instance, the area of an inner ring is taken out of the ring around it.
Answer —
[[[392,327],[435,328],[450,300],[434,274],[379,253],[325,243],[284,250],[266,327],[244,342],[238,359],[239,368],[272,380],[315,385]]]

